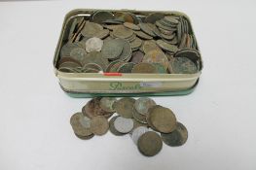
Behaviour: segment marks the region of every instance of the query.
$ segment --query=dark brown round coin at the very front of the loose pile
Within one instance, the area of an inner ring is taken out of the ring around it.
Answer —
[[[163,141],[159,134],[154,131],[148,131],[139,137],[137,147],[140,153],[146,156],[153,156],[160,153],[163,148]]]

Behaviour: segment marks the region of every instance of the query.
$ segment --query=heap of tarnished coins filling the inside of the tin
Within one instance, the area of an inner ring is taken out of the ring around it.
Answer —
[[[57,62],[68,73],[194,74],[201,54],[186,17],[96,11],[67,26]]]

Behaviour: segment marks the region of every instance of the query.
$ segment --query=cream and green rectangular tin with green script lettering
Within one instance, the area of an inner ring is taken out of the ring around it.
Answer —
[[[108,74],[108,73],[65,73],[58,71],[57,61],[61,47],[68,39],[72,19],[89,18],[97,10],[79,9],[69,12],[63,21],[59,40],[55,49],[55,76],[60,87],[72,97],[92,96],[142,96],[142,95],[184,95],[191,93],[199,83],[202,69],[195,74]],[[156,12],[133,10],[104,10],[109,12],[130,12],[137,17],[152,13],[174,14],[186,17],[193,32],[189,17],[180,12]],[[194,32],[193,32],[194,34]],[[195,34],[194,34],[195,35]],[[198,45],[198,43],[197,43]],[[199,47],[197,47],[199,51]]]

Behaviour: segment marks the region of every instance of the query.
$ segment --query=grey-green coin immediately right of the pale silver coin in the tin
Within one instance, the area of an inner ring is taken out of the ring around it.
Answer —
[[[125,41],[122,39],[113,39],[104,41],[102,47],[102,56],[105,58],[117,58],[123,51]]]

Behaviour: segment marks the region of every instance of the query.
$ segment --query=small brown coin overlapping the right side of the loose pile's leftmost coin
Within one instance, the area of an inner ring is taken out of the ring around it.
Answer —
[[[105,117],[97,116],[91,119],[91,132],[95,135],[107,133],[108,127],[108,120]]]

